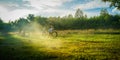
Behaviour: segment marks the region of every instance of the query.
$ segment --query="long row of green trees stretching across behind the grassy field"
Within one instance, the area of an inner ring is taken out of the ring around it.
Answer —
[[[3,20],[0,19],[0,31],[22,31],[23,29],[29,29],[34,22],[42,27],[53,25],[57,30],[120,29],[120,15],[118,14],[111,15],[107,9],[102,9],[99,16],[88,18],[81,9],[77,9],[74,16],[68,14],[64,17],[42,17],[29,14],[27,18],[19,18],[15,21],[9,21],[8,23],[4,23]]]

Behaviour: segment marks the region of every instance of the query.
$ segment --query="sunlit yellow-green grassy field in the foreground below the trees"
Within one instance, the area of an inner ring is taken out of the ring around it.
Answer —
[[[120,60],[120,30],[62,30],[56,38],[1,34],[0,60]]]

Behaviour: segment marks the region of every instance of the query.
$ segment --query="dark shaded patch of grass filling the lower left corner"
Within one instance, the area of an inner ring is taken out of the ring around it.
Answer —
[[[47,60],[57,56],[37,51],[28,43],[10,34],[0,35],[0,60]]]

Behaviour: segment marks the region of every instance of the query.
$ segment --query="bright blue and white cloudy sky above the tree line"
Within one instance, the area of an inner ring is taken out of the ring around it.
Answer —
[[[102,8],[110,14],[120,14],[109,2],[101,0],[0,0],[0,18],[4,22],[14,21],[28,14],[38,16],[74,16],[76,9],[81,9],[88,17],[98,16]]]

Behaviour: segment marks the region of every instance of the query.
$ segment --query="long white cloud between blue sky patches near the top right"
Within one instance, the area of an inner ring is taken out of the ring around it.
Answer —
[[[94,9],[94,8],[105,8],[105,7],[109,7],[110,3],[104,3],[101,0],[93,0],[90,1],[86,4],[78,4],[75,7],[75,9],[80,8],[82,10],[87,10],[87,9]]]

